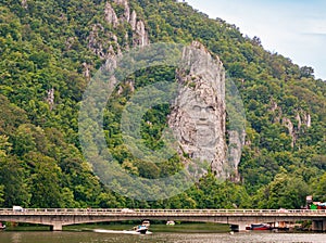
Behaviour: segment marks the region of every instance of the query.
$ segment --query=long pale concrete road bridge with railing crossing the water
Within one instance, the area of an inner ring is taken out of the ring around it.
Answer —
[[[255,222],[312,220],[313,230],[326,231],[326,210],[310,209],[92,209],[92,208],[0,208],[0,221],[63,226],[125,220],[175,220],[237,226],[240,231]]]

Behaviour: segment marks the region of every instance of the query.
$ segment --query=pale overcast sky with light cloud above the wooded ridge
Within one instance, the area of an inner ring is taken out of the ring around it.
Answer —
[[[186,0],[326,80],[326,0]]]

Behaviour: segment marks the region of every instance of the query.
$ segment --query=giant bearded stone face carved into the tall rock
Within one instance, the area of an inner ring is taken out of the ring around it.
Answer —
[[[200,174],[205,174],[208,166],[213,165],[221,153],[223,135],[221,113],[216,102],[217,92],[210,84],[198,80],[195,89],[184,87],[170,118],[170,125],[178,138],[183,153],[187,153],[192,166]],[[208,163],[208,164],[205,164]],[[220,162],[217,163],[218,167]],[[208,165],[206,167],[203,167]]]

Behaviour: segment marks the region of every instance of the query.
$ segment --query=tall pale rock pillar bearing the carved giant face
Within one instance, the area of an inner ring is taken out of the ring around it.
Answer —
[[[183,62],[189,68],[177,72],[181,85],[168,126],[179,143],[185,163],[202,176],[209,169],[225,178],[226,164],[226,104],[225,72],[217,56],[195,41],[186,48]]]

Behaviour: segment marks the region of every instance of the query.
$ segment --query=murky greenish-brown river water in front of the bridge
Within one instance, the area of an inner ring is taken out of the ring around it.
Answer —
[[[201,229],[203,226],[199,226]],[[191,226],[192,229],[196,226]],[[96,229],[104,229],[95,232]],[[322,233],[273,233],[273,232],[179,232],[171,230],[156,232],[152,228],[151,234],[130,235],[121,231],[114,233],[105,227],[97,226],[90,229],[68,229],[62,232],[51,231],[2,231],[0,243],[326,243],[326,234]],[[168,232],[170,231],[170,232]]]

